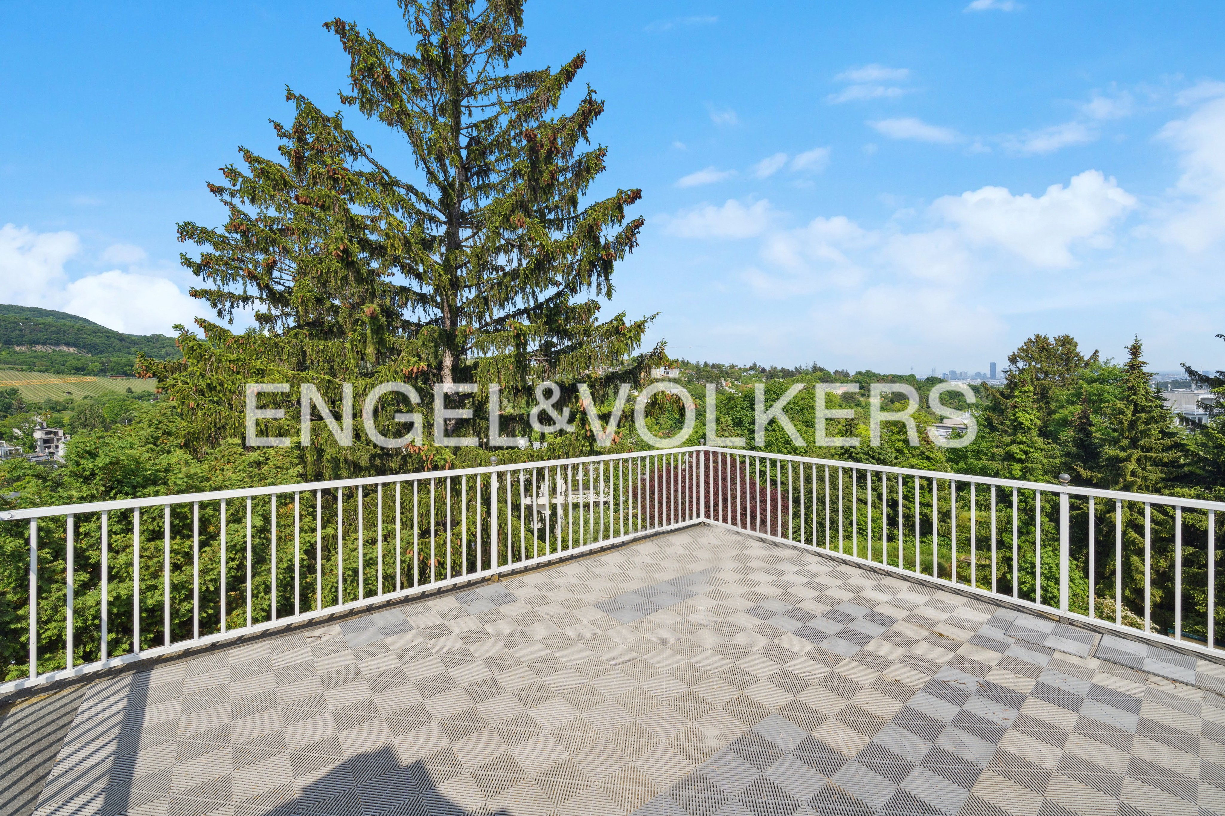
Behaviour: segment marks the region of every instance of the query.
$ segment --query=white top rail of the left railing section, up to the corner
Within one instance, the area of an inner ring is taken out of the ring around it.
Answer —
[[[244,487],[230,491],[209,491],[207,493],[178,493],[174,495],[149,495],[136,499],[114,499],[110,502],[86,502],[81,504],[55,504],[42,508],[22,508],[15,510],[0,510],[0,521],[20,521],[23,519],[43,519],[48,516],[65,516],[69,514],[102,513],[109,510],[131,510],[134,508],[156,508],[165,504],[192,504],[195,502],[219,502],[222,499],[245,499],[257,495],[279,495],[284,493],[307,493],[312,491],[334,491],[345,487],[366,487],[371,484],[394,484],[396,482],[417,482],[431,478],[443,478],[447,476],[473,476],[485,473],[501,473],[516,470],[530,470],[534,467],[555,467],[559,465],[576,465],[595,460],[610,461],[619,459],[635,459],[655,454],[676,454],[702,450],[699,447],[687,448],[662,448],[657,450],[637,450],[622,454],[604,454],[600,456],[576,456],[570,459],[539,459],[527,462],[510,462],[506,465],[485,465],[483,467],[463,467],[456,470],[429,470],[418,473],[392,473],[387,476],[363,476],[361,478],[342,478],[327,482],[300,482],[294,484],[268,484],[265,487]]]

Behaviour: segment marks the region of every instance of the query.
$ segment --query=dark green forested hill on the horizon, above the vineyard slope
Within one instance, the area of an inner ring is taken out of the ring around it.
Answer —
[[[36,351],[33,346],[44,346],[37,351],[75,349],[96,357],[135,357],[137,351],[159,360],[179,356],[174,339],[163,334],[123,334],[67,312],[2,303],[0,346],[9,352],[15,346],[27,346],[29,351]]]

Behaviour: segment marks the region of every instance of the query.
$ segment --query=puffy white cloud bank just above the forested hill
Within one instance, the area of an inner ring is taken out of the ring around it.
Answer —
[[[111,269],[69,281],[65,263],[81,241],[74,232],[34,232],[0,228],[0,297],[18,306],[54,308],[129,334],[170,334],[175,323],[190,324],[200,305],[170,280]],[[145,252],[131,245],[108,247],[99,259],[135,263]]]

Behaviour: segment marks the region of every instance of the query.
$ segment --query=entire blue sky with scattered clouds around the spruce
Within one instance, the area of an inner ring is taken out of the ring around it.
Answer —
[[[271,153],[284,86],[339,106],[336,16],[408,44],[390,0],[7,10],[0,301],[203,313],[175,223],[221,220],[205,182]],[[609,308],[659,312],[676,356],[985,371],[1067,332],[1218,368],[1221,31],[1219,2],[529,0],[523,64],[587,50],[593,193],[647,218]]]

